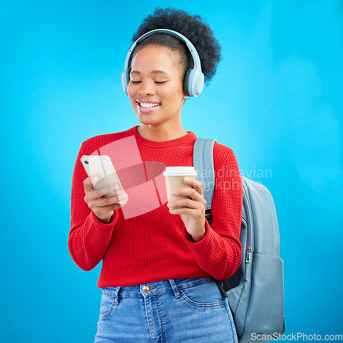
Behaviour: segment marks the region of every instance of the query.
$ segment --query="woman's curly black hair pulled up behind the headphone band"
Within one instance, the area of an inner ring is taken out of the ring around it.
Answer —
[[[215,75],[217,64],[221,60],[221,47],[213,36],[211,27],[207,25],[200,15],[191,15],[174,8],[156,8],[153,14],[143,19],[143,23],[132,37],[132,42],[153,29],[172,29],[187,37],[198,51],[205,83],[209,83]],[[185,72],[193,67],[193,59],[185,43],[170,34],[152,34],[152,36],[148,36],[137,45],[134,54],[142,47],[151,44],[169,47],[173,51],[178,51],[182,56],[181,60]]]

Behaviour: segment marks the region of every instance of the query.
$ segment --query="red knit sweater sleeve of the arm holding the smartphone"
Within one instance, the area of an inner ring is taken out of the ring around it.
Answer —
[[[113,228],[119,217],[114,211],[109,224],[104,224],[84,201],[84,179],[86,171],[80,162],[82,155],[90,154],[86,150],[86,142],[82,143],[75,162],[71,183],[71,230],[68,248],[73,261],[82,270],[92,270],[102,261],[110,244]]]

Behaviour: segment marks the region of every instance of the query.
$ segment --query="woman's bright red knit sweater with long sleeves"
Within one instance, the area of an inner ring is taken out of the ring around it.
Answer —
[[[213,222],[210,226],[205,220],[201,241],[191,241],[180,215],[167,208],[163,171],[192,166],[195,141],[193,132],[171,141],[148,141],[135,126],[82,143],[73,171],[68,245],[82,270],[103,260],[99,288],[199,276],[224,280],[239,267],[243,188],[232,149],[220,143],[213,147]],[[84,202],[87,174],[80,158],[90,154],[110,156],[128,194],[109,224],[100,222]]]

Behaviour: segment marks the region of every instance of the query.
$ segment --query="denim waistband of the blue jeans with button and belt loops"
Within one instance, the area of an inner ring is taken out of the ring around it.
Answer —
[[[142,283],[141,285],[105,287],[103,290],[103,294],[105,294],[106,296],[115,297],[116,304],[118,297],[122,298],[126,296],[154,296],[156,294],[165,292],[174,292],[176,298],[178,298],[180,296],[178,289],[209,282],[215,282],[215,279],[213,279],[213,277],[211,276],[187,279],[169,279]]]

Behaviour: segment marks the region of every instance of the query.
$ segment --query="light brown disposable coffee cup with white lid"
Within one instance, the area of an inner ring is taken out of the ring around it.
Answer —
[[[186,198],[185,196],[171,196],[171,191],[176,188],[191,188],[190,185],[184,182],[185,176],[189,178],[196,179],[198,173],[195,171],[194,167],[167,167],[163,171],[163,176],[165,176],[165,186],[167,188],[167,199],[168,202],[172,202],[176,199]],[[175,206],[175,208],[183,206]]]

